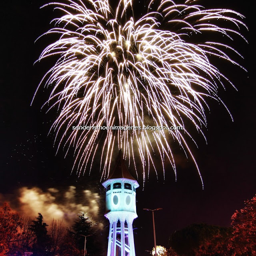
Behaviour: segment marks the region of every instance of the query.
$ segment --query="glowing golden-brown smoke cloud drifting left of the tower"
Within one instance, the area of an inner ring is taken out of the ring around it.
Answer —
[[[90,190],[78,190],[75,186],[69,186],[62,191],[57,188],[48,188],[43,191],[38,187],[22,187],[17,191],[16,198],[0,195],[0,201],[4,200],[9,201],[11,207],[24,216],[34,219],[40,212],[47,224],[50,224],[54,218],[63,220],[69,227],[78,213],[83,211],[92,222],[98,222],[98,228],[103,227],[103,224],[99,223],[100,196]]]

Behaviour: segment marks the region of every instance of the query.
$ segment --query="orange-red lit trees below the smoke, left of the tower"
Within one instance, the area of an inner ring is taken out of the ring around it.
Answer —
[[[88,231],[88,227],[79,225],[78,221],[73,226],[78,231],[81,227],[83,232]],[[83,256],[84,247],[79,249],[77,244],[81,237],[68,232],[62,221],[52,220],[48,226],[40,213],[31,220],[12,210],[7,203],[0,207],[0,256],[18,256],[24,252],[33,252],[36,256]],[[82,242],[84,245],[84,237]]]

